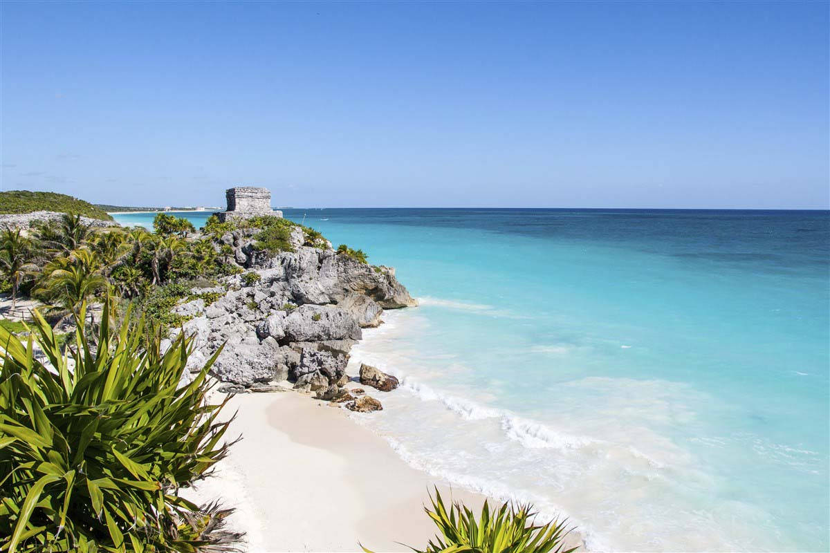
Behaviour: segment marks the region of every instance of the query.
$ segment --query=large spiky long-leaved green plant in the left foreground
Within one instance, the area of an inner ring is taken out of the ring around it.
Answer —
[[[209,536],[224,512],[204,521],[178,497],[227,454],[225,403],[206,401],[216,356],[181,385],[192,338],[163,353],[143,319],[115,328],[112,303],[95,348],[85,306],[66,353],[37,310],[27,343],[0,327],[0,551],[217,551],[238,537]]]

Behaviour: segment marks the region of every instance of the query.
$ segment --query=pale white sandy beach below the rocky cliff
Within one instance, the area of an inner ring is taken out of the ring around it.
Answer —
[[[422,547],[434,535],[422,509],[433,484],[474,509],[484,500],[409,467],[325,402],[293,392],[246,394],[231,400],[228,413],[234,410],[229,438],[243,439],[195,499],[235,507],[230,526],[247,533],[247,551],[360,551],[359,544],[409,551],[397,542]]]

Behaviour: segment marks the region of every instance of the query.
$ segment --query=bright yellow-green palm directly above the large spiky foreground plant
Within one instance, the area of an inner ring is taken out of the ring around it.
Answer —
[[[53,307],[68,310],[68,317],[77,315],[86,300],[108,289],[109,285],[102,274],[100,258],[92,251],[81,248],[46,264],[35,293],[47,298]]]

